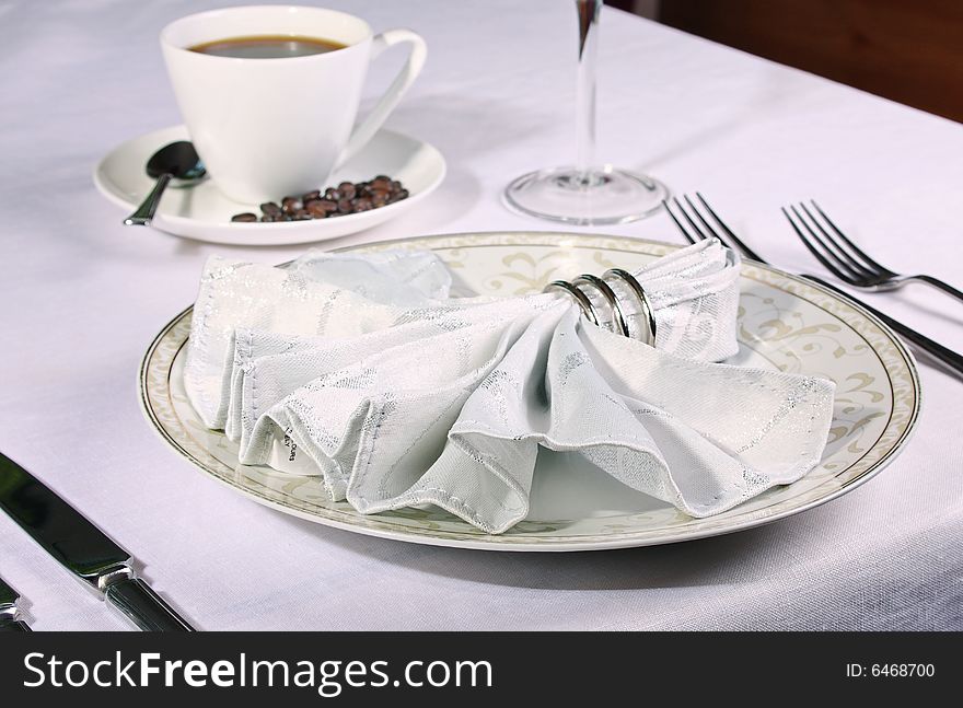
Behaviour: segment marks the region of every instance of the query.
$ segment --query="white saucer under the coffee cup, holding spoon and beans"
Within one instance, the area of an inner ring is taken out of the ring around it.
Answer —
[[[162,146],[188,140],[184,126],[155,130],[134,138],[112,150],[94,169],[94,184],[111,201],[126,212],[132,211],[153,187],[144,165]],[[278,246],[311,243],[346,236],[375,227],[414,207],[444,179],[442,154],[431,144],[391,130],[380,130],[353,159],[328,179],[327,187],[339,182],[361,182],[385,174],[399,179],[409,197],[402,201],[361,213],[277,223],[237,223],[231,217],[242,211],[260,213],[257,205],[228,199],[210,179],[164,193],[153,227],[177,236],[243,246]],[[278,199],[285,195],[278,195]],[[118,214],[118,219],[121,214]]]

